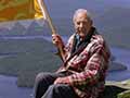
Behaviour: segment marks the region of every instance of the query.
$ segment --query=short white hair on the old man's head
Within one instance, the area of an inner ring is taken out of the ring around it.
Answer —
[[[92,21],[92,20],[91,20],[91,14],[90,14],[86,9],[78,9],[78,10],[76,10],[75,13],[74,13],[74,17],[73,17],[73,21],[74,21],[74,22],[75,22],[77,15],[78,15],[79,13],[86,13],[86,14],[87,14],[87,19],[90,20],[90,21]]]

